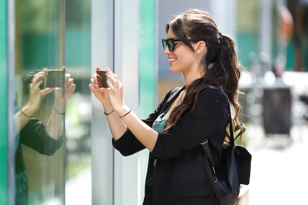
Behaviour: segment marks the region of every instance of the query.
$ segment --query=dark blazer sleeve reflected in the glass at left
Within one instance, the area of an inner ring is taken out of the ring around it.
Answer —
[[[31,118],[21,130],[20,142],[43,155],[51,156],[62,146],[63,137],[59,140],[52,138],[40,120]]]

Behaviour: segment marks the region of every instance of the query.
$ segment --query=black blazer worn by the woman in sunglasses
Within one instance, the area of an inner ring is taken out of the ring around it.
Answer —
[[[150,127],[156,118],[179,96],[183,88],[171,89],[156,110],[143,121]],[[159,133],[156,145],[149,154],[143,204],[213,204],[215,194],[210,189],[203,163],[201,142],[208,139],[216,162],[226,135],[228,103],[219,89],[200,92],[194,110],[189,110],[173,128]],[[123,156],[139,152],[145,147],[127,130],[112,145]],[[153,162],[157,159],[156,168]]]

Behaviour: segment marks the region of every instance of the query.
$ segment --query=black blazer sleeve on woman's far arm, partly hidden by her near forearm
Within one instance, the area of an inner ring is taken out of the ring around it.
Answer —
[[[162,101],[160,101],[154,112],[152,112],[146,119],[142,119],[142,121],[146,125],[152,127],[153,122],[159,116],[164,104],[168,100],[169,96],[174,92],[174,90],[175,88],[171,89],[166,94],[166,96]],[[145,149],[144,145],[142,145],[142,143],[132,134],[129,129],[127,129],[127,131],[117,141],[112,138],[112,146],[116,150],[118,150],[123,156],[129,156]]]

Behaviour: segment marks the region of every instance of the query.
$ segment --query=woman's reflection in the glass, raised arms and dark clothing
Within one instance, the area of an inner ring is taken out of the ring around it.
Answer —
[[[63,88],[46,88],[40,89],[43,83],[43,77],[47,75],[47,69],[34,75],[30,84],[30,97],[26,106],[18,109],[14,115],[14,134],[16,136],[16,153],[15,153],[15,200],[16,204],[28,204],[28,179],[25,169],[22,144],[43,154],[51,156],[62,145],[62,122],[64,119],[64,102],[74,93],[74,80],[70,74],[66,74],[65,99]],[[54,107],[46,126],[33,118],[36,111],[40,109],[44,97],[54,91]],[[15,108],[18,108],[15,105]]]

